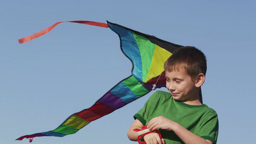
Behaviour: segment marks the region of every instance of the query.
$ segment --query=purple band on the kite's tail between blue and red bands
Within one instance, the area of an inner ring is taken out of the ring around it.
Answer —
[[[106,106],[108,106],[114,110],[126,105],[125,102],[123,102],[120,98],[118,98],[114,94],[111,94],[110,92],[108,92],[105,96],[103,96],[99,100],[99,102],[101,104],[105,104]]]

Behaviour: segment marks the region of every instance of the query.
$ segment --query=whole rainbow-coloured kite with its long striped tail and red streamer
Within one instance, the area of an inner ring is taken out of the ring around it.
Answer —
[[[63,137],[74,134],[90,122],[110,114],[114,110],[122,108],[126,104],[144,96],[151,90],[165,87],[166,78],[164,73],[164,62],[172,55],[174,50],[182,47],[144,34],[119,24],[107,21],[106,23],[90,21],[67,21],[80,24],[89,24],[104,28],[110,28],[120,38],[120,48],[124,55],[132,62],[132,75],[120,81],[111,88],[90,108],[72,114],[58,128],[48,132],[22,136],[16,140],[24,138],[56,136]],[[62,22],[37,32],[31,36],[19,39],[19,43],[28,42],[34,38],[50,32],[55,26]],[[202,100],[202,97],[200,98]]]

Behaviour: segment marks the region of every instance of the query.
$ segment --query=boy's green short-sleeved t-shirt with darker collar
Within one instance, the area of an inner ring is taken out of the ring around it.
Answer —
[[[144,107],[134,115],[134,119],[140,120],[143,125],[157,116],[164,116],[177,122],[190,132],[206,140],[217,142],[218,137],[218,116],[215,110],[205,104],[192,106],[172,98],[172,95],[164,91],[156,91]],[[173,132],[161,130],[162,138],[166,144],[184,144]]]

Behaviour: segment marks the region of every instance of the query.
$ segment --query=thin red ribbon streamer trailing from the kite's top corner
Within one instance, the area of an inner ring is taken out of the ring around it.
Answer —
[[[76,21],[66,21],[66,22],[74,22],[74,23],[79,23],[79,24],[88,24],[88,25],[92,25],[92,26],[99,26],[99,27],[103,27],[103,28],[108,28],[108,24],[106,23],[102,23],[102,22],[91,22],[91,21],[83,21],[83,20],[76,20]],[[61,24],[63,22],[56,22],[55,24],[53,24],[52,26],[50,26],[49,28],[46,28],[44,30],[41,30],[40,32],[36,32],[35,34],[32,34],[31,36],[27,36],[25,38],[21,38],[19,39],[19,43],[22,44],[24,42],[28,42],[30,40],[33,40],[39,36],[42,36],[44,34],[47,34],[48,32],[50,32],[53,28],[55,28],[55,26],[57,26],[58,24]]]

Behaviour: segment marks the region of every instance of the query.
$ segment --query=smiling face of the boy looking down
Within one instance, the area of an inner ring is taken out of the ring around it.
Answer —
[[[180,71],[177,72],[166,71],[165,76],[166,88],[172,94],[174,100],[187,102],[198,98],[196,82],[192,80],[184,68],[180,68]]]

